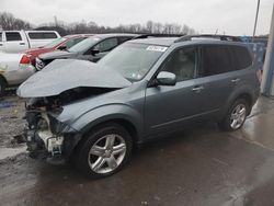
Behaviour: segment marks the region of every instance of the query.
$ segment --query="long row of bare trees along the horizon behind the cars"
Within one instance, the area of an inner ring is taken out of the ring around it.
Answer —
[[[75,23],[65,23],[58,20],[57,16],[54,18],[55,22],[48,22],[39,25],[35,30],[56,30],[60,35],[66,34],[82,34],[82,33],[158,33],[158,34],[194,34],[195,31],[187,25],[180,25],[176,23],[165,23],[147,21],[146,24],[128,24],[128,25],[118,25],[115,27],[110,26],[100,26],[93,21]],[[11,13],[0,13],[0,27],[2,30],[30,30],[32,26],[28,22],[14,18]]]

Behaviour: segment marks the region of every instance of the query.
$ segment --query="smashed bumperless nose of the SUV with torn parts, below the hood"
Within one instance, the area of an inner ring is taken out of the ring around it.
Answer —
[[[55,164],[68,159],[80,134],[57,121],[61,111],[58,100],[54,98],[31,99],[26,103],[27,125],[24,136],[30,157],[47,159]]]

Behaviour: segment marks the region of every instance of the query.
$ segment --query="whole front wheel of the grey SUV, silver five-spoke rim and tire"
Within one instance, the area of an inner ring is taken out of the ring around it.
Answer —
[[[124,127],[107,124],[87,136],[78,157],[77,165],[93,179],[112,175],[119,171],[132,152],[132,137]]]

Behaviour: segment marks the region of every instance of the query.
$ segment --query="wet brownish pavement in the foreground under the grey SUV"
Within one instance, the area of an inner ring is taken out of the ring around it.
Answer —
[[[241,130],[206,124],[174,134],[98,181],[70,165],[9,158],[0,161],[0,205],[273,206],[273,123],[274,100],[261,98]]]

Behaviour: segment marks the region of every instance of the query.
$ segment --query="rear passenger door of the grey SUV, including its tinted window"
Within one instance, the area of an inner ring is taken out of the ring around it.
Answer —
[[[235,90],[238,81],[237,71],[228,45],[202,46],[201,59],[198,78],[195,82],[203,87],[204,101],[201,105],[204,111],[202,112],[212,111],[208,114],[216,115]]]

